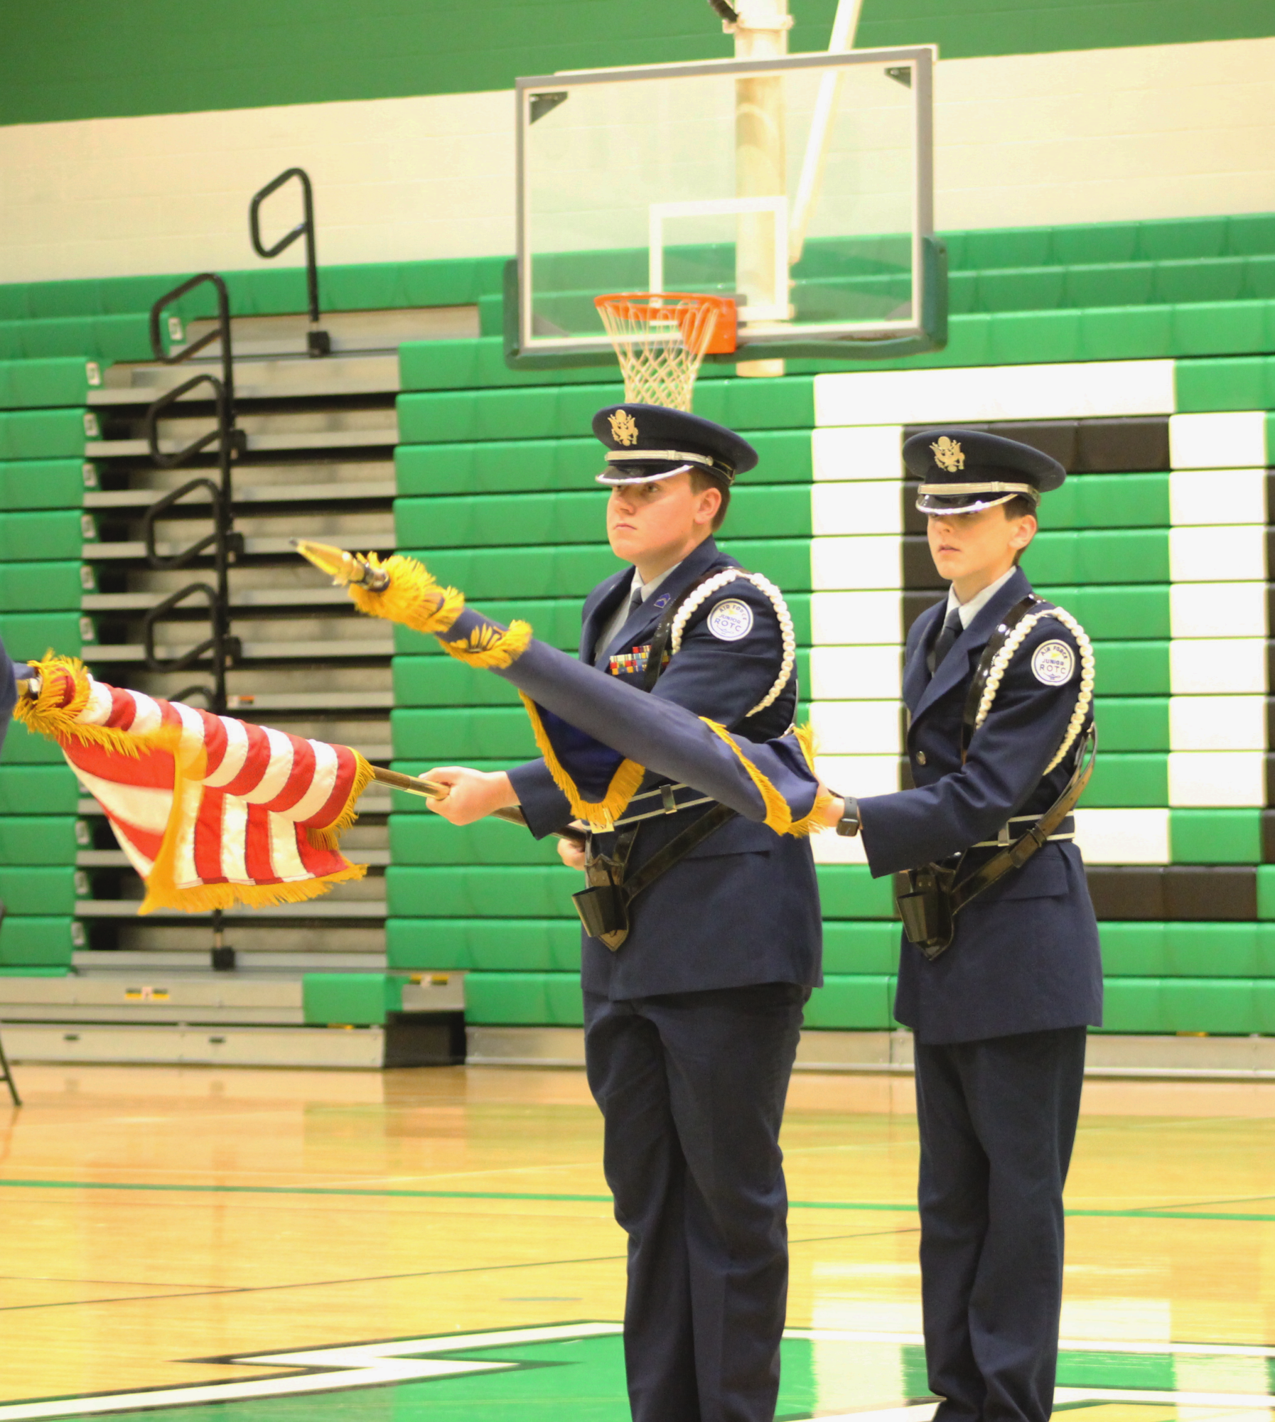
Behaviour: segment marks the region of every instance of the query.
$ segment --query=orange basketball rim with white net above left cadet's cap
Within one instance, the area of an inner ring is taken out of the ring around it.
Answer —
[[[624,398],[689,410],[699,363],[735,350],[735,301],[691,292],[596,296],[624,375]]]

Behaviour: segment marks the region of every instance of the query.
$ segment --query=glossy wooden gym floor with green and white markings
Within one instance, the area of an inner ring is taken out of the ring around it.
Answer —
[[[580,1072],[17,1075],[0,1422],[628,1416]],[[928,1418],[911,1081],[796,1078],[785,1149],[779,1415]],[[1069,1210],[1059,1409],[1271,1422],[1275,1085],[1090,1084]]]

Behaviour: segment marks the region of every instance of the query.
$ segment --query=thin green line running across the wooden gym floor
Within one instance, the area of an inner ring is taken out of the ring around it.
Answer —
[[[550,1194],[534,1190],[368,1190],[327,1185],[159,1185],[145,1180],[0,1180],[0,1189],[10,1190],[144,1190],[161,1194],[335,1194],[344,1197],[402,1199],[402,1200],[546,1200],[564,1204],[610,1204],[610,1194]],[[884,1200],[789,1200],[793,1210],[886,1210],[914,1213],[913,1203],[894,1204]],[[1109,1220],[1235,1220],[1249,1224],[1275,1224],[1275,1214],[1239,1214],[1231,1212],[1173,1210],[1144,1204],[1134,1210],[1067,1210],[1072,1219]]]

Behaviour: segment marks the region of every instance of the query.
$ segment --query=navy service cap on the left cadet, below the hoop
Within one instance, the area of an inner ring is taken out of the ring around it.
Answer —
[[[668,405],[607,405],[593,417],[593,432],[607,447],[598,483],[650,483],[699,469],[729,486],[758,462],[733,429]]]

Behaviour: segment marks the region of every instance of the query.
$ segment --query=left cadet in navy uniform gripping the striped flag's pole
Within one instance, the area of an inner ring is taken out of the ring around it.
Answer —
[[[714,576],[739,567],[712,533],[756,452],[721,425],[652,405],[603,410],[593,429],[607,447],[598,482],[611,489],[611,549],[634,566],[588,594],[580,658],[648,687],[652,641],[664,660],[661,620],[694,609],[651,695],[752,741],[783,735],[797,685],[782,600]],[[438,809],[456,823],[520,805],[543,836],[571,818],[543,759],[507,775],[429,775],[452,786]],[[648,776],[617,822],[637,829],[630,865],[711,811],[689,786]],[[615,835],[596,840],[610,852]],[[637,1422],[773,1418],[787,1294],[778,1138],[820,948],[809,842],[739,816],[634,900],[617,951],[584,937],[588,1082],[630,1241],[624,1345]]]

